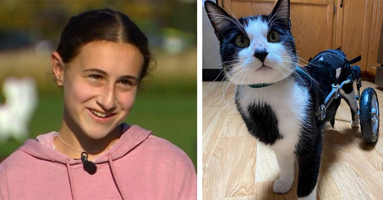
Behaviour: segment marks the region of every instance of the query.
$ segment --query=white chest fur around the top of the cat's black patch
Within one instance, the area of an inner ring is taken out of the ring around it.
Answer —
[[[279,133],[295,144],[298,142],[309,106],[307,89],[298,86],[294,79],[289,79],[263,88],[243,85],[236,91],[240,112],[250,117],[249,106],[269,105],[278,120]]]

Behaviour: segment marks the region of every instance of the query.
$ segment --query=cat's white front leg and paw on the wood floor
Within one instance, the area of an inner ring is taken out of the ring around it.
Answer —
[[[279,179],[274,182],[274,192],[286,193],[290,190],[294,181],[294,154],[286,149],[274,148],[280,168]]]

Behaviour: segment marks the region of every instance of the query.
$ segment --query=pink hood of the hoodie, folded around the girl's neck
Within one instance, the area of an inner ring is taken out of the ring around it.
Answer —
[[[131,149],[145,141],[152,133],[151,131],[142,129],[136,125],[129,126],[127,123],[123,123],[122,132],[123,133],[117,142],[115,142],[103,154],[94,160],[91,160],[94,164],[108,162],[108,155],[111,157],[111,160],[117,160],[125,156]],[[69,161],[70,165],[81,164],[81,160],[69,158],[53,148],[53,138],[56,134],[57,132],[53,131],[39,135],[36,139],[29,139],[24,145],[19,147],[19,149],[33,157],[46,161],[52,161],[64,165],[66,165],[66,161]]]

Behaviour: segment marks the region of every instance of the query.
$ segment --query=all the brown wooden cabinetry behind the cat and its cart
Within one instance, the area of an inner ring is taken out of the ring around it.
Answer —
[[[237,18],[269,14],[274,0],[218,0]],[[341,7],[342,4],[342,7]],[[383,21],[381,0],[291,0],[292,34],[298,56],[308,60],[320,51],[342,47],[349,59],[362,55],[363,71],[374,74]]]

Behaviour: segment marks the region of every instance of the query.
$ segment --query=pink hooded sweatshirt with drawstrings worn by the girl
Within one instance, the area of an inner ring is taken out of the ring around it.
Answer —
[[[53,148],[57,132],[29,139],[0,164],[0,199],[197,199],[196,170],[177,146],[124,123],[121,138],[92,160]]]

